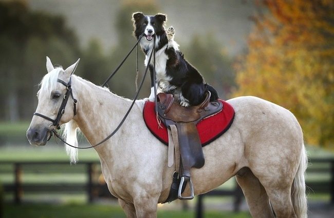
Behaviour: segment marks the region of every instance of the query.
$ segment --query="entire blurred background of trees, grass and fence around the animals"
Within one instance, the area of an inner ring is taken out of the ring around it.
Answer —
[[[0,0],[0,217],[125,217],[94,150],[69,165],[53,139],[29,146],[46,56],[101,85],[136,43],[132,13],[168,16],[185,58],[220,98],[255,95],[295,114],[310,158],[309,217],[334,215],[334,2]],[[144,72],[139,52],[139,77]],[[133,98],[136,55],[108,83]],[[150,94],[149,78],[140,97]],[[86,145],[84,136],[81,144]],[[234,179],[215,196],[159,205],[158,217],[250,217]],[[214,194],[214,193],[212,193]],[[239,212],[236,212],[239,211]]]

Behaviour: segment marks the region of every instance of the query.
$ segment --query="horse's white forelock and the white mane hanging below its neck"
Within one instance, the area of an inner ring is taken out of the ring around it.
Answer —
[[[49,93],[51,94],[51,91],[57,87],[58,84],[58,76],[61,72],[64,72],[62,67],[58,67],[47,73],[41,83],[41,89],[40,91],[42,93]],[[80,130],[78,128],[78,125],[75,121],[71,120],[70,122],[65,124],[65,128],[63,128],[63,137],[65,141],[73,146],[78,146],[78,138],[77,138],[77,130]],[[78,162],[78,149],[72,148],[65,144],[66,153],[70,157],[71,163],[77,163]]]

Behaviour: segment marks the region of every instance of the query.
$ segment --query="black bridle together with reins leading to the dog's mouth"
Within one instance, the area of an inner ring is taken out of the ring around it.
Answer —
[[[140,42],[140,40],[141,40],[141,38],[142,38],[142,36],[144,35],[144,33],[143,34],[141,34],[140,35],[140,37],[139,37],[139,39],[138,39],[138,41],[137,41],[137,43],[135,44],[135,46],[129,51],[129,53],[124,57],[124,59],[123,59],[123,61],[121,62],[121,64],[116,68],[116,70],[107,78],[107,80],[103,83],[103,85],[102,86],[105,86],[107,83],[108,83],[108,81],[110,80],[110,78],[112,78],[115,74],[116,74],[116,72],[119,70],[119,68],[123,65],[123,63],[125,62],[125,60],[127,59],[127,57],[132,53],[132,51],[137,47],[137,63],[138,63],[138,43]],[[152,52],[151,52],[151,55],[150,55],[150,58],[149,58],[149,64],[147,64],[147,66],[146,66],[146,69],[145,69],[145,72],[144,72],[144,75],[143,75],[143,78],[142,78],[142,80],[141,80],[141,82],[140,82],[140,85],[139,85],[139,88],[138,88],[138,90],[137,90],[137,92],[136,92],[136,94],[135,94],[135,97],[134,97],[134,100],[132,101],[132,104],[131,104],[131,106],[129,107],[129,109],[127,110],[127,112],[125,113],[125,115],[124,115],[124,117],[123,117],[123,119],[122,119],[122,121],[119,123],[119,125],[116,127],[116,129],[112,132],[112,133],[110,133],[106,138],[104,138],[104,140],[102,140],[101,142],[99,142],[98,144],[96,144],[96,145],[92,145],[92,146],[89,146],[89,147],[77,147],[77,146],[73,146],[73,145],[70,145],[70,144],[68,144],[59,134],[58,134],[58,132],[57,132],[57,130],[58,129],[60,129],[60,120],[61,120],[61,118],[62,118],[62,115],[65,113],[65,107],[66,107],[66,104],[67,104],[67,101],[68,101],[68,98],[69,98],[69,96],[71,96],[71,98],[72,98],[72,100],[73,100],[73,116],[75,116],[76,114],[77,114],[77,100],[76,100],[76,98],[74,98],[73,97],[73,93],[72,93],[72,87],[71,87],[71,77],[69,78],[69,82],[68,83],[65,83],[64,81],[62,81],[62,80],[57,80],[57,82],[59,82],[59,83],[61,83],[61,84],[63,84],[64,86],[66,86],[66,93],[65,93],[65,95],[64,95],[64,97],[63,97],[63,102],[62,102],[62,104],[61,104],[61,106],[60,106],[60,108],[59,108],[59,111],[58,111],[58,114],[57,114],[57,117],[53,120],[52,118],[50,118],[50,117],[48,117],[48,116],[45,116],[45,115],[43,115],[43,114],[40,114],[40,113],[33,113],[33,115],[36,115],[36,116],[40,116],[40,117],[43,117],[43,118],[45,118],[46,120],[48,120],[48,121],[51,121],[52,122],[52,124],[50,124],[50,126],[49,126],[49,131],[50,131],[50,136],[49,136],[49,138],[48,138],[48,141],[50,140],[50,138],[51,138],[51,136],[52,136],[52,133],[54,134],[54,136],[55,137],[58,137],[63,143],[65,143],[66,145],[68,145],[68,146],[70,146],[70,147],[72,147],[72,148],[78,148],[78,149],[88,149],[88,148],[94,148],[94,147],[96,147],[96,146],[99,146],[99,145],[101,145],[102,143],[104,143],[104,142],[106,142],[110,137],[112,137],[120,128],[121,128],[121,126],[122,126],[122,124],[124,123],[124,121],[126,120],[126,117],[127,117],[127,115],[130,113],[130,111],[131,111],[131,109],[133,108],[133,106],[134,106],[134,104],[135,104],[135,102],[136,102],[136,100],[137,100],[137,98],[138,98],[138,95],[139,95],[139,92],[140,92],[140,90],[141,90],[141,88],[142,88],[142,86],[143,86],[143,83],[144,83],[144,79],[145,79],[145,77],[146,77],[146,74],[147,74],[147,70],[149,69],[149,66],[150,66],[150,62],[151,62],[151,58],[152,58],[152,55],[153,55],[153,53],[154,53],[154,58],[153,58],[153,65],[154,65],[154,75],[155,75],[155,41],[156,41],[156,37],[154,36],[154,44],[153,44],[153,49],[152,49]],[[74,72],[74,70],[73,70],[73,72]],[[72,72],[72,73],[73,73]],[[137,72],[138,72],[138,64],[137,64]]]

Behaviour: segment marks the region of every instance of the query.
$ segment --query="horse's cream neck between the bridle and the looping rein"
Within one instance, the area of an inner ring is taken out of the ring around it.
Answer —
[[[78,76],[73,78],[78,100],[75,121],[89,143],[95,145],[115,130],[131,102]]]

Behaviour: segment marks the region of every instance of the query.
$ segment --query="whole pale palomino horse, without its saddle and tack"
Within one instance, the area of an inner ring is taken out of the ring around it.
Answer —
[[[60,120],[66,124],[66,141],[77,145],[79,128],[95,145],[115,129],[131,101],[72,75],[77,63],[63,70],[53,68],[47,58],[48,73],[41,82],[36,113],[56,117],[66,92],[59,81],[68,83],[71,79],[78,103],[75,115],[69,98]],[[157,204],[166,200],[174,171],[167,167],[167,146],[145,126],[142,113],[146,101],[137,101],[119,131],[95,147],[108,189],[118,197],[127,217],[156,217]],[[307,156],[294,115],[257,97],[237,97],[228,103],[235,110],[234,122],[226,133],[203,147],[205,165],[191,171],[195,194],[206,193],[236,176],[253,217],[274,217],[271,207],[276,217],[307,217]],[[30,144],[45,145],[51,123],[33,116],[27,131]],[[77,149],[68,147],[67,151],[76,162]],[[189,188],[185,190],[189,196]]]

